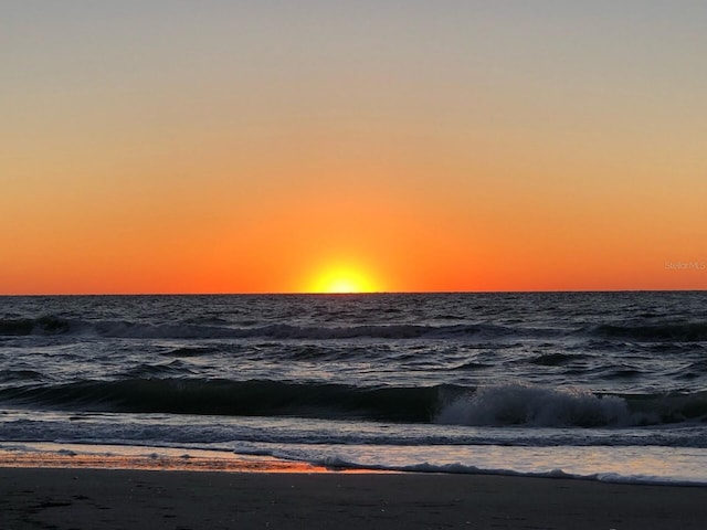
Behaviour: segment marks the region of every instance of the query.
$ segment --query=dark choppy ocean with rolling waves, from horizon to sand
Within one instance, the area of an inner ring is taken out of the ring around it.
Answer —
[[[707,293],[0,297],[0,449],[707,485]]]

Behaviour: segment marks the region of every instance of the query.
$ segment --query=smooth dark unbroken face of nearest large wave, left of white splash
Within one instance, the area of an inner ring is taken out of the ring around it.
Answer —
[[[278,381],[126,379],[6,388],[0,400],[94,412],[429,421],[436,388],[352,388]]]

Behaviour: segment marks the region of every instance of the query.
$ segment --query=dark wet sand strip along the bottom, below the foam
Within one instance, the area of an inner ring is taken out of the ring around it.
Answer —
[[[0,468],[0,528],[704,529],[707,488],[504,476]]]

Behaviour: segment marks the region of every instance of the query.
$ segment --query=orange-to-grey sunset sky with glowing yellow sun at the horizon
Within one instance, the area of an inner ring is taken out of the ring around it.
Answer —
[[[0,294],[706,289],[705,28],[701,0],[3,2]]]

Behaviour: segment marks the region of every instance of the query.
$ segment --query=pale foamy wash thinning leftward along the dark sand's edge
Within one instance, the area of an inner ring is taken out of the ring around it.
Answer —
[[[327,446],[273,444],[257,453],[331,469],[568,478],[624,484],[707,485],[705,449],[673,447]],[[611,469],[611,470],[608,470]]]

